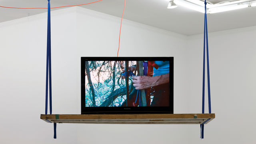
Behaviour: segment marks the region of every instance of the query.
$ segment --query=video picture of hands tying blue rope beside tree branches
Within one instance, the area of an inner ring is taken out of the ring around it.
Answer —
[[[85,106],[170,106],[169,61],[85,61]]]

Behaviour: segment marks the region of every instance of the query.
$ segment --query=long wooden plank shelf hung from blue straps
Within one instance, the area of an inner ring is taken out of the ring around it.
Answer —
[[[46,122],[78,124],[207,124],[215,114],[41,114]]]

